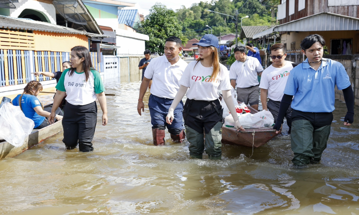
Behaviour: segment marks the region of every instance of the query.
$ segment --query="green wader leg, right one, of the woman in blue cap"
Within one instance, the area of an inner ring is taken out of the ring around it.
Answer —
[[[206,134],[205,148],[208,158],[211,160],[222,159],[222,122],[218,122],[213,128]]]

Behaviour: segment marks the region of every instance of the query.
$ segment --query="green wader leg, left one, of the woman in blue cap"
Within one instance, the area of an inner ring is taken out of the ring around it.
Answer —
[[[204,152],[204,133],[198,133],[194,129],[185,125],[187,141],[190,143],[188,150],[190,150],[191,158],[202,159]]]

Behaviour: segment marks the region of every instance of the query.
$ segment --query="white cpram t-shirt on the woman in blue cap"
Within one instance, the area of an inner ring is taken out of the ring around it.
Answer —
[[[183,72],[180,84],[190,87],[187,98],[202,101],[213,101],[219,98],[218,89],[230,90],[229,73],[225,66],[220,64],[220,73],[211,78],[213,67],[204,67],[201,62],[192,61]]]

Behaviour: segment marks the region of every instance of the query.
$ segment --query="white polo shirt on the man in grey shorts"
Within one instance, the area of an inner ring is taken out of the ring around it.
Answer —
[[[255,57],[247,56],[246,61],[235,61],[229,69],[230,80],[236,80],[236,86],[246,88],[256,86],[258,82],[257,72],[262,72],[263,67]]]

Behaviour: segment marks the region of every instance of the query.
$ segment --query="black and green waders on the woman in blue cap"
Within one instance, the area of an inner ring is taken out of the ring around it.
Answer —
[[[222,106],[219,100],[187,99],[183,110],[188,149],[192,158],[202,159],[205,151],[209,159],[222,158]],[[205,140],[204,140],[205,137]]]

